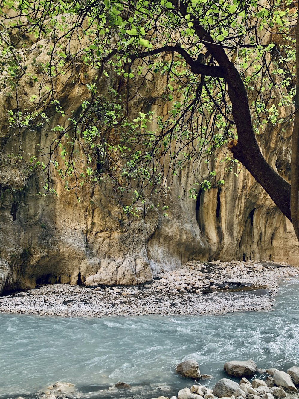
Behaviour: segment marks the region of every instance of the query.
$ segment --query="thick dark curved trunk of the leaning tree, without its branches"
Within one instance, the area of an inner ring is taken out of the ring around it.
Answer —
[[[182,1],[178,3],[178,0],[172,0],[172,3],[175,8],[179,5],[179,10],[183,17],[188,14],[187,8]],[[240,74],[228,59],[224,49],[216,45],[210,34],[198,23],[193,15],[191,15],[191,19],[197,36],[203,40],[207,50],[222,68],[224,79],[228,85],[228,94],[232,102],[232,115],[238,132],[238,141],[235,142],[236,140],[233,140],[228,148],[232,151],[234,157],[242,162],[256,181],[265,189],[281,212],[291,220],[291,185],[271,168],[260,152],[252,126],[246,89]],[[295,153],[298,154],[298,151]],[[297,199],[295,201],[297,202],[295,203],[298,206],[298,190],[296,195]]]

